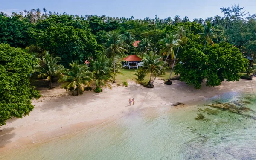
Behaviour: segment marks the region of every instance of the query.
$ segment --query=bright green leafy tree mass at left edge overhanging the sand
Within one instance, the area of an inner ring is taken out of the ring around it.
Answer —
[[[29,74],[35,65],[32,56],[20,48],[0,44],[0,125],[29,115],[34,108],[30,100],[40,95],[30,87]]]

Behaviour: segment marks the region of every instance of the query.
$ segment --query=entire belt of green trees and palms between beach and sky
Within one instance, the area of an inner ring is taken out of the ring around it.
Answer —
[[[33,109],[30,99],[39,94],[29,86],[28,77],[35,70],[50,82],[63,71],[59,82],[76,95],[92,81],[95,92],[101,92],[107,81],[115,82],[120,60],[127,54],[145,55],[136,80],[141,82],[150,73],[148,85],[153,85],[151,77],[161,74],[165,64],[172,64],[180,80],[195,88],[201,88],[204,79],[207,86],[216,86],[221,81],[237,81],[245,69],[247,75],[253,73],[256,15],[236,5],[221,12],[224,17],[192,21],[179,15],[165,19],[79,16],[47,13],[45,8],[43,13],[40,9],[10,16],[0,13],[0,43],[4,43],[0,45],[0,125]],[[141,40],[138,47],[133,46],[136,40]],[[162,58],[169,59],[168,63]],[[90,67],[84,65],[85,60]]]

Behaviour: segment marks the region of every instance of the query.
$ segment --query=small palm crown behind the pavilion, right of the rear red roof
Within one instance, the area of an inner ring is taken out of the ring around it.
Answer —
[[[152,41],[149,38],[143,38],[138,44],[137,50],[140,53],[140,57],[143,58],[144,54],[148,55],[149,51],[153,50]]]

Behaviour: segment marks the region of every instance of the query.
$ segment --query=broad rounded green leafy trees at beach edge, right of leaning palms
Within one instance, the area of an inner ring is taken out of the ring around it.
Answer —
[[[247,60],[241,52],[228,43],[207,45],[192,43],[186,46],[175,74],[180,74],[180,81],[201,88],[206,79],[207,86],[217,86],[221,81],[238,81],[239,72],[245,70]]]

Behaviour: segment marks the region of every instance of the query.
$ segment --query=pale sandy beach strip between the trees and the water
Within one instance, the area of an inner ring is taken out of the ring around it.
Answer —
[[[42,90],[43,96],[32,101],[35,108],[29,116],[10,119],[0,127],[0,152],[112,121],[142,108],[193,103],[230,91],[256,93],[256,79],[222,82],[218,87],[203,85],[201,90],[180,81],[173,81],[171,86],[154,84],[153,89],[131,81],[128,84],[128,87],[112,84],[112,90],[86,91],[74,97],[59,87]],[[129,98],[135,99],[134,105],[128,105]]]

